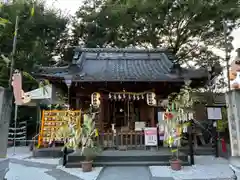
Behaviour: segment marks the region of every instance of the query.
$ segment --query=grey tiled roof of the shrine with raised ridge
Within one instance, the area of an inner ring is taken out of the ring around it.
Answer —
[[[70,74],[79,81],[183,81],[187,75],[174,71],[174,60],[166,50],[76,48],[72,65],[41,68],[39,73],[61,78]]]

